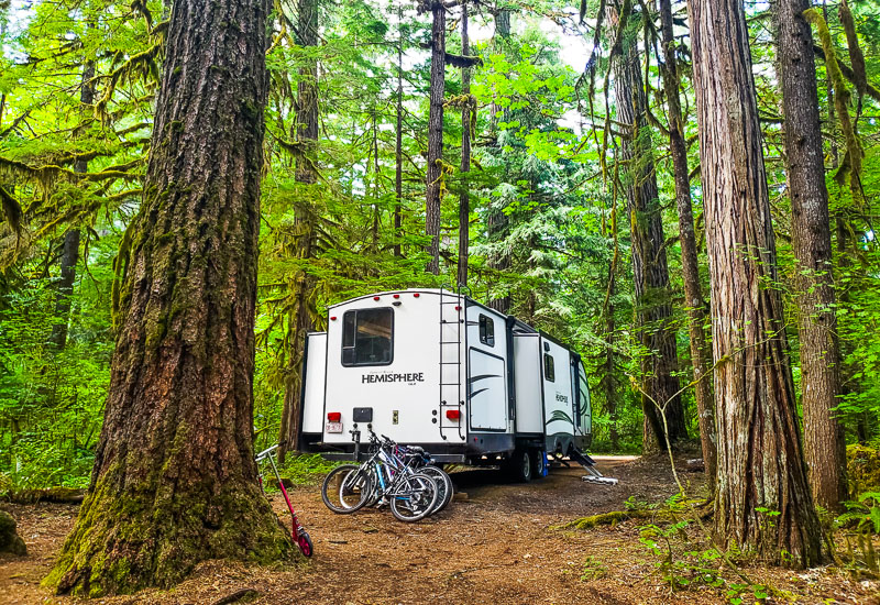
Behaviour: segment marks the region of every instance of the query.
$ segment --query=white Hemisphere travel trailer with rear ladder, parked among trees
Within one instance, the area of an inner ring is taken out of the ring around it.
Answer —
[[[549,336],[446,289],[362,296],[328,318],[306,341],[300,449],[350,459],[370,428],[525,481],[548,453],[592,464],[584,366]]]

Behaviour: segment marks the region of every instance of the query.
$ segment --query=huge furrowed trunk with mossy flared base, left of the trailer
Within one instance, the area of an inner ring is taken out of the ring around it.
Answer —
[[[47,579],[170,586],[206,559],[290,556],[253,459],[265,0],[177,0],[91,484]]]

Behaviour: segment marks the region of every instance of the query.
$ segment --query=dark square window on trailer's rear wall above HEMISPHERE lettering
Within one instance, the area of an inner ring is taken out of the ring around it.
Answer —
[[[388,365],[394,359],[394,310],[358,309],[342,316],[342,365]]]

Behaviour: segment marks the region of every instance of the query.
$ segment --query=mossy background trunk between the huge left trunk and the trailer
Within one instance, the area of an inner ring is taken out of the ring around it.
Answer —
[[[297,4],[297,42],[300,46],[318,44],[318,7],[316,0],[299,0]],[[311,61],[299,68],[296,111],[297,142],[302,156],[297,160],[296,182],[314,185],[318,180],[315,158],[318,143],[318,63]],[[315,239],[315,217],[308,202],[296,209],[296,224],[299,242],[296,256],[302,263],[312,258]],[[312,329],[310,298],[316,280],[308,268],[300,266],[294,279],[294,305],[288,318],[288,366],[282,406],[280,428],[278,429],[278,460],[284,462],[288,451],[299,449],[299,417],[301,411],[302,358],[306,334]]]

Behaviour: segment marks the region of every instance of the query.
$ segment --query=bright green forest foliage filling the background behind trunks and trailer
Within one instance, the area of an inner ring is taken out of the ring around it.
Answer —
[[[582,3],[587,21],[598,6]],[[650,35],[652,23],[641,21],[641,6],[626,32],[619,23],[619,32],[607,22],[595,32],[592,23],[576,23],[576,15],[565,12],[571,3],[541,0],[530,11],[510,8],[515,26],[505,38],[490,37],[495,25],[491,11],[471,15],[471,54],[482,59],[471,70],[476,100],[472,124],[461,123],[460,70],[447,69],[444,165],[452,169],[443,180],[441,275],[435,277],[424,271],[428,16],[417,14],[415,3],[406,1],[321,2],[320,44],[309,47],[297,42],[292,7],[275,6],[267,53],[272,84],[265,109],[261,206],[257,446],[277,440],[285,392],[296,388],[301,360],[299,309],[306,309],[308,329],[321,330],[327,305],[376,290],[453,283],[458,200],[466,188],[473,296],[481,301],[508,298],[512,315],[579,350],[590,374],[594,450],[640,450],[641,404],[628,376],[639,375],[639,361],[650,352],[638,344],[632,330],[631,239],[619,176],[627,168],[619,157],[623,129],[614,121],[614,95],[608,94],[614,86],[608,57],[619,33],[630,43],[634,36]],[[147,165],[166,28],[160,15],[165,8],[157,0],[146,2],[145,9],[141,2],[61,0],[36,1],[32,9],[14,16],[4,13],[8,26],[0,28],[4,48],[0,190],[6,191],[0,193],[0,472],[15,486],[84,485],[109,381],[113,265],[124,264],[125,246],[118,260],[114,256],[139,211]],[[789,191],[779,161],[782,129],[776,56],[767,35],[766,7],[748,11],[780,258],[779,279],[772,286],[785,293],[793,326],[793,278],[799,270],[791,253]],[[836,12],[828,11],[826,42],[844,65],[848,41]],[[876,84],[880,21],[865,3],[854,3],[853,12],[868,81]],[[581,35],[586,45],[572,42],[571,34]],[[657,52],[651,41],[636,42]],[[684,130],[692,141],[696,123],[688,44],[684,38],[679,59]],[[395,191],[398,46],[404,55],[399,197]],[[448,46],[450,52],[461,47],[454,19]],[[590,59],[586,75],[563,61],[581,52],[584,63]],[[654,172],[674,293],[670,304],[686,380],[691,374],[688,318],[679,294],[683,285],[675,190],[662,132],[666,101],[657,84],[656,57],[641,58],[652,118],[642,134],[657,148]],[[320,129],[317,143],[310,143],[298,132],[298,90],[310,81],[309,69],[316,64]],[[84,80],[89,66],[94,76]],[[828,73],[825,62],[818,61],[817,77],[837,251],[833,271],[844,381],[838,410],[850,440],[870,440],[877,437],[880,417],[880,342],[866,338],[880,330],[880,251],[873,230],[880,193],[878,103],[866,96],[859,105],[853,94],[848,105],[845,98],[835,105],[827,79],[843,89],[839,74]],[[91,101],[84,103],[88,86],[95,90]],[[854,88],[851,82],[846,86]],[[834,123],[832,109],[838,112]],[[851,114],[853,132],[842,130],[840,109]],[[474,130],[473,169],[466,178],[458,169],[463,128]],[[845,150],[855,148],[854,133],[865,152],[860,189],[855,191],[849,183],[842,186],[834,178],[845,163]],[[697,145],[688,153],[695,169]],[[78,161],[87,162],[85,172],[75,170]],[[315,170],[315,183],[297,177],[302,165]],[[701,279],[708,292],[697,174],[691,194]],[[393,227],[396,212],[399,232]],[[69,318],[61,318],[55,317],[55,284],[61,240],[70,228],[80,229],[80,254],[88,257],[77,265],[74,310]],[[47,334],[64,320],[69,323],[69,343],[53,351]],[[798,336],[794,330],[788,336],[802,388]],[[691,432],[696,435],[692,394],[685,392],[683,397]],[[297,476],[299,472],[290,471]],[[310,474],[306,469],[301,473],[304,480]],[[853,476],[859,490],[877,487],[867,475]]]

